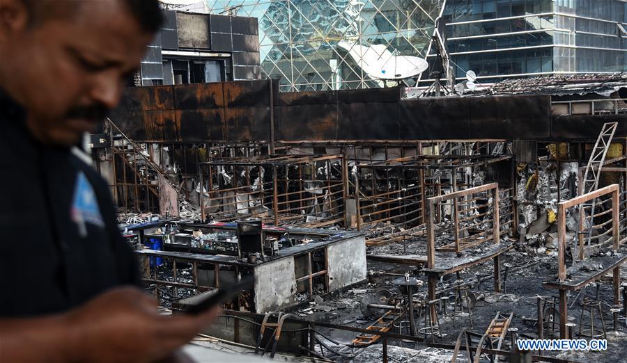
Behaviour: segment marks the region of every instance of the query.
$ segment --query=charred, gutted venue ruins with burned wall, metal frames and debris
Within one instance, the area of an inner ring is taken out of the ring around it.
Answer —
[[[278,90],[126,88],[92,136],[163,309],[256,278],[199,339],[303,362],[507,361],[523,338],[608,341],[534,361],[627,353],[625,74]]]

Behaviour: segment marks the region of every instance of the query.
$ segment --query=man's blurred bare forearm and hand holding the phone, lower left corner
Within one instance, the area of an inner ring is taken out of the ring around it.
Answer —
[[[60,316],[1,320],[0,360],[153,362],[191,340],[218,313],[164,316],[144,291],[111,289]]]

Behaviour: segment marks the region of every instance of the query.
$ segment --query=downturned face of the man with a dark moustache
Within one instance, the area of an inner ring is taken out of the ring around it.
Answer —
[[[153,38],[119,0],[81,3],[74,15],[36,26],[19,13],[14,23],[0,19],[0,86],[26,108],[29,129],[47,145],[76,145],[94,131]]]

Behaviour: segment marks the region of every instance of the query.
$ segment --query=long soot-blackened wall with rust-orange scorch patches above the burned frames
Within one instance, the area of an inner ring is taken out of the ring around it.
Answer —
[[[316,140],[596,139],[625,115],[552,116],[550,96],[401,99],[400,88],[277,92],[274,138]],[[127,88],[111,120],[134,140],[270,140],[268,81]]]

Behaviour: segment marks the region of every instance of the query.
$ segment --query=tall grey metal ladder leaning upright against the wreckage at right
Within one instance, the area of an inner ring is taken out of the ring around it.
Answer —
[[[584,173],[582,183],[582,195],[590,193],[592,191],[596,191],[596,189],[598,188],[598,179],[599,177],[601,177],[601,169],[603,168],[603,164],[605,163],[605,155],[607,155],[607,150],[610,149],[610,145],[612,144],[612,138],[614,138],[614,133],[616,132],[617,127],[618,122],[607,122],[603,124],[601,133],[598,134],[598,138],[596,139],[596,143],[594,144],[594,148],[592,149],[592,154],[590,155],[590,159],[588,160],[588,164],[586,166],[586,171]],[[582,218],[584,219],[584,223],[588,229],[586,236],[587,245],[590,245],[592,238],[595,207],[596,198],[582,206]],[[589,209],[589,214],[587,213],[587,209]]]

